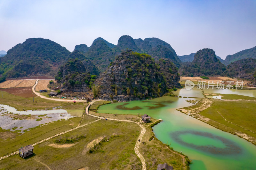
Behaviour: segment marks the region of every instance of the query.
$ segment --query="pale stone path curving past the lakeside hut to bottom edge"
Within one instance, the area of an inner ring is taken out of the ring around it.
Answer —
[[[93,100],[93,101],[89,102],[88,106],[87,106],[86,109],[85,109],[85,113],[86,113],[87,115],[90,115],[90,114],[89,114],[89,107],[90,107],[94,102],[96,102],[96,101],[100,101],[100,100]],[[90,116],[98,117],[98,118],[102,119],[102,117],[100,117],[100,116],[95,116],[95,115],[90,115]],[[106,118],[104,118],[104,119],[106,119]],[[143,125],[141,125],[140,123],[138,123],[138,122],[133,122],[133,121],[129,121],[129,120],[120,120],[120,119],[112,119],[112,118],[108,118],[108,120],[122,121],[122,122],[132,122],[132,123],[136,123],[137,125],[140,126],[141,132],[140,132],[140,136],[138,137],[138,140],[137,140],[137,142],[136,142],[136,144],[135,144],[134,152],[135,152],[136,155],[140,158],[140,162],[142,163],[142,170],[147,170],[147,168],[146,168],[146,160],[145,160],[145,158],[144,158],[144,157],[140,154],[140,152],[139,152],[139,147],[140,147],[140,142],[139,142],[139,140],[142,141],[142,138],[143,138],[144,134],[146,133],[145,127],[144,127]]]

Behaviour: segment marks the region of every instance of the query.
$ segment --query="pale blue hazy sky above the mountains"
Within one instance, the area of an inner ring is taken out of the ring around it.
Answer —
[[[256,46],[256,0],[0,0],[0,50],[41,37],[73,51],[122,35],[159,38],[177,55],[212,48],[225,59]]]

